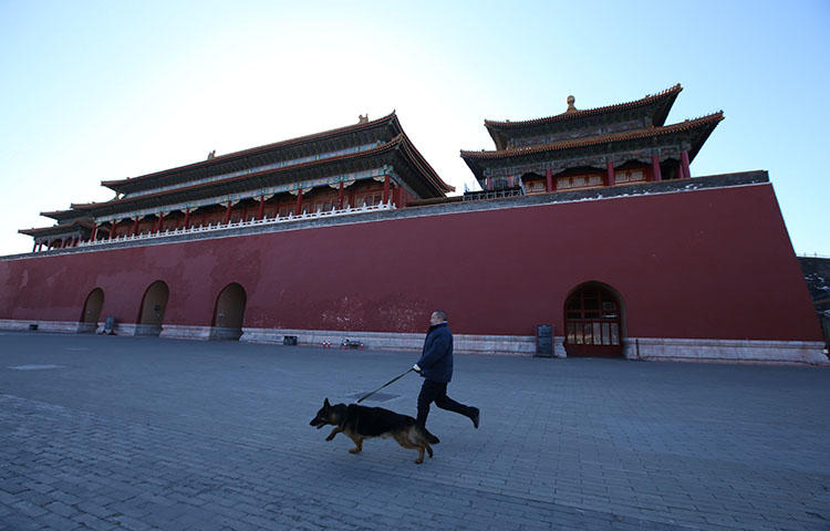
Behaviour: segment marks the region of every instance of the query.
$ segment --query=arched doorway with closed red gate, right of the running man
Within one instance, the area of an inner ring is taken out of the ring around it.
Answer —
[[[622,356],[620,298],[600,282],[580,285],[564,303],[564,331],[569,357]]]

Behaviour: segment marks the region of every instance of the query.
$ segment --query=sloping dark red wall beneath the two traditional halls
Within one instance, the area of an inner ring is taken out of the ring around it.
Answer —
[[[432,211],[428,208],[424,212]],[[155,280],[166,324],[210,325],[230,282],[245,326],[562,333],[585,281],[622,295],[625,336],[821,341],[771,185],[626,197],[0,261],[0,319],[135,322]]]

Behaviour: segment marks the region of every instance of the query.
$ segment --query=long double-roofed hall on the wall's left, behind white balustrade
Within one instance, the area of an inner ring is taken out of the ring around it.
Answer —
[[[415,149],[394,113],[102,185],[115,191],[113,200],[41,212],[58,223],[21,230],[34,238],[33,251],[364,206],[405,207],[454,189]]]

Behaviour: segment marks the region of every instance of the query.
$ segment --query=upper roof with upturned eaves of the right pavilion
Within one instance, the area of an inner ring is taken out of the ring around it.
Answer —
[[[548,125],[575,122],[587,117],[601,116],[603,114],[613,114],[622,111],[631,111],[649,106],[655,107],[655,113],[652,116],[652,124],[656,127],[660,127],[665,124],[668,112],[671,111],[672,105],[674,105],[674,102],[681,91],[683,91],[683,87],[679,83],[677,83],[676,85],[672,86],[671,88],[666,88],[663,92],[654,95],[647,95],[632,102],[618,103],[615,105],[606,105],[604,107],[587,108],[583,111],[574,111],[572,113],[562,113],[543,118],[526,119],[519,122],[485,119],[485,127],[490,134],[492,142],[499,148],[502,148],[507,143],[507,138],[510,136],[508,135],[509,133],[515,134],[522,128],[543,128]]]

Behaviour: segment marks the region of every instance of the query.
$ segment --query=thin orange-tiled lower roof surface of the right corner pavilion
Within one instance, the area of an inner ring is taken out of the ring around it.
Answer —
[[[590,136],[587,138],[579,138],[575,140],[561,140],[553,142],[550,144],[539,144],[536,146],[498,149],[498,150],[480,150],[480,152],[466,152],[461,150],[461,158],[509,158],[521,155],[528,155],[533,153],[544,152],[557,152],[562,149],[571,149],[574,147],[584,147],[595,144],[605,144],[610,142],[629,140],[634,138],[647,138],[652,136],[661,136],[670,133],[677,133],[682,131],[695,129],[703,127],[707,124],[717,125],[718,122],[724,119],[724,112],[718,111],[717,113],[709,114],[696,119],[687,119],[677,124],[666,125],[662,127],[649,127],[644,129],[633,129],[623,133],[614,133],[610,135]]]

